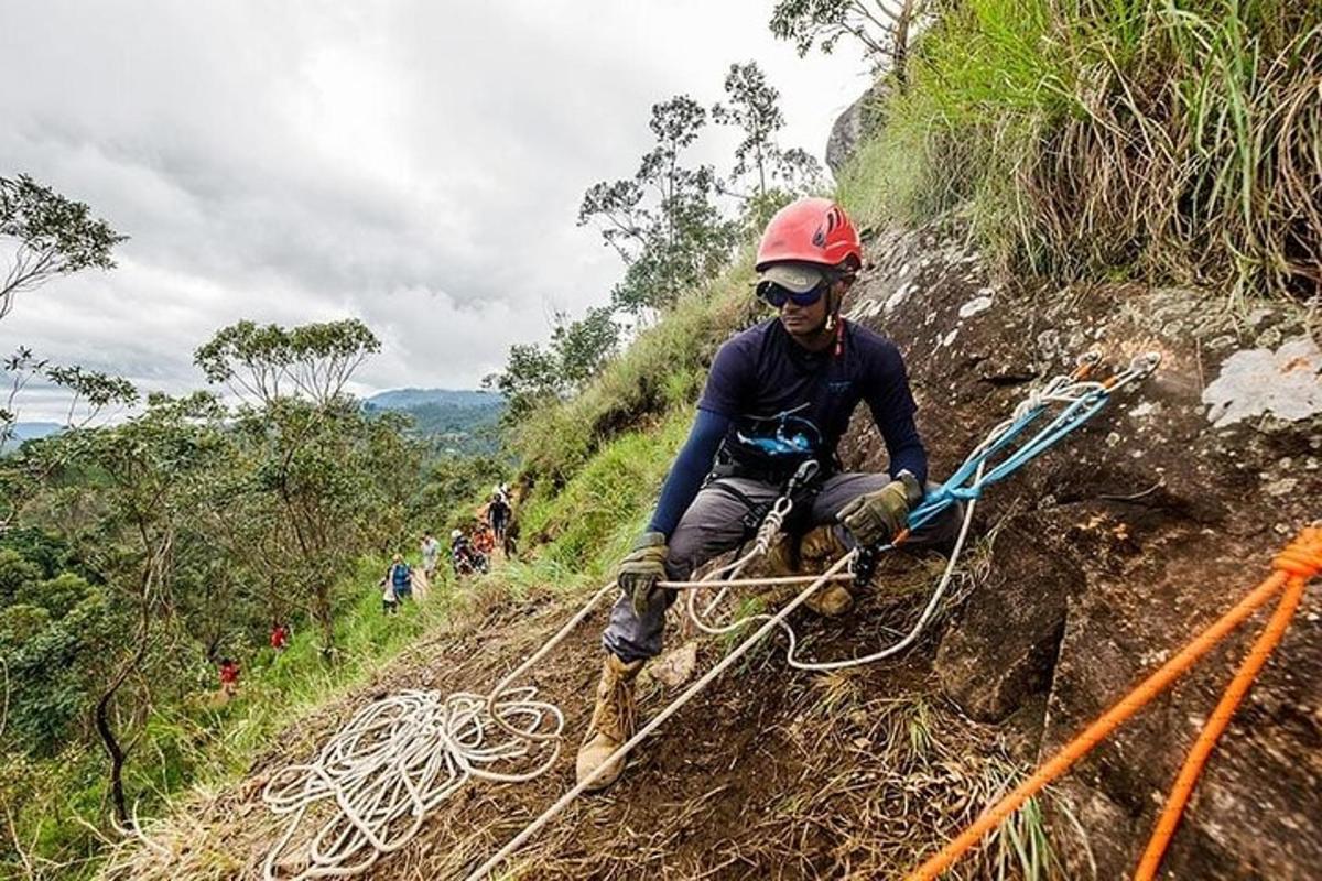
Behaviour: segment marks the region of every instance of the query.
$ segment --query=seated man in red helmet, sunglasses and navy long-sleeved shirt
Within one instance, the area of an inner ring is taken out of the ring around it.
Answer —
[[[812,530],[802,544],[837,557],[846,540],[891,540],[921,501],[927,452],[914,424],[904,361],[892,342],[839,316],[861,267],[858,234],[830,199],[800,199],[767,226],[758,248],[758,296],[779,314],[717,353],[650,526],[620,564],[621,596],[602,638],[607,656],[578,754],[580,781],[633,734],[633,680],[661,652],[665,610],[676,597],[657,589],[658,581],[687,580],[699,564],[748,538],[805,462],[814,462],[818,474],[796,491],[798,518],[788,526],[800,535]],[[838,466],[836,446],[859,402],[880,429],[890,474]],[[945,543],[957,523],[951,510],[908,546]],[[822,614],[842,614],[853,602],[843,586],[818,594],[810,605]],[[623,761],[613,762],[592,787],[611,785],[623,770]]]

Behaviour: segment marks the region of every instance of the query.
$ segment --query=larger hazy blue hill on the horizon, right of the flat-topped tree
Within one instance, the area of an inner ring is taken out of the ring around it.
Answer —
[[[435,439],[442,449],[492,453],[498,446],[496,424],[505,412],[505,399],[486,391],[394,388],[368,398],[362,408],[412,416],[414,433]]]

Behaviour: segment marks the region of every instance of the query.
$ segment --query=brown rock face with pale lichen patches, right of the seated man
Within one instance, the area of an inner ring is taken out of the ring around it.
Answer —
[[[1272,556],[1319,515],[1317,343],[1302,310],[1286,305],[1236,325],[1215,295],[999,284],[958,230],[886,232],[869,256],[849,316],[904,351],[933,479],[1032,382],[1067,372],[1077,355],[1097,350],[1120,366],[1162,355],[1141,388],[989,489],[978,507],[980,532],[994,536],[982,547],[989,575],[954,610],[936,670],[968,715],[1027,732],[1017,752],[1031,763],[1266,577]],[[845,465],[884,468],[880,439],[858,419]],[[1318,877],[1319,593],[1307,592],[1222,738],[1162,877]],[[1088,836],[1095,877],[1133,872],[1188,746],[1266,614],[1055,787]],[[1066,844],[1073,823],[1058,816],[1054,826],[1069,877],[1093,877],[1084,849]]]

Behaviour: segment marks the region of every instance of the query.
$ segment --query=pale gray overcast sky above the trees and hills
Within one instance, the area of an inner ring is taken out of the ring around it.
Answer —
[[[633,174],[654,102],[710,106],[730,63],[756,59],[781,144],[821,159],[865,65],[851,46],[798,58],[772,5],[7,3],[0,174],[132,238],[116,269],[20,295],[0,354],[180,392],[226,324],[353,316],[382,339],[360,394],[473,388],[554,310],[609,300],[621,265],[578,205]],[[732,143],[709,127],[694,159],[727,169]],[[54,416],[40,391],[21,411]]]

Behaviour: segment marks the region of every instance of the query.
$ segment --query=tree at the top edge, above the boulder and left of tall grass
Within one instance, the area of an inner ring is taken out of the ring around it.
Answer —
[[[780,0],[771,12],[771,32],[793,40],[800,55],[814,45],[830,53],[841,37],[853,37],[903,85],[910,33],[924,7],[923,0]]]

